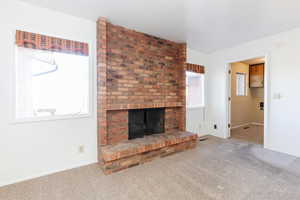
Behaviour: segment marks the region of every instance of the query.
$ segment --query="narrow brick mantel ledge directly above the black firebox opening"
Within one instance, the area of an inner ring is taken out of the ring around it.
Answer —
[[[147,103],[147,104],[116,104],[107,105],[106,110],[129,110],[129,109],[144,109],[144,108],[171,108],[182,107],[182,102],[173,103]]]

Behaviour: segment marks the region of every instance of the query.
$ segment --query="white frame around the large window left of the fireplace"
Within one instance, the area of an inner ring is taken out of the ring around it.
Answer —
[[[86,42],[89,45],[89,52],[92,51],[92,42]],[[35,123],[35,122],[43,122],[43,121],[57,121],[57,120],[71,120],[71,119],[80,119],[80,118],[91,118],[94,116],[94,110],[93,108],[95,107],[94,105],[94,94],[95,94],[95,89],[93,87],[93,84],[95,83],[95,77],[94,74],[96,73],[96,69],[94,68],[94,56],[92,54],[88,55],[88,112],[84,114],[65,114],[65,115],[54,115],[54,116],[39,116],[39,117],[28,117],[28,118],[17,118],[17,113],[16,113],[16,106],[17,106],[17,101],[16,101],[16,86],[17,86],[17,77],[16,77],[16,72],[17,72],[17,67],[18,67],[18,46],[16,44],[13,44],[13,67],[12,67],[12,76],[11,76],[11,86],[12,89],[10,90],[12,92],[11,96],[11,114],[10,114],[10,122],[12,124],[19,124],[19,123]]]

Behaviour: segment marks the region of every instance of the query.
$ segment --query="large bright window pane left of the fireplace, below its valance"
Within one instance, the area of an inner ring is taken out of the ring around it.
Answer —
[[[89,112],[89,57],[17,47],[17,119]]]

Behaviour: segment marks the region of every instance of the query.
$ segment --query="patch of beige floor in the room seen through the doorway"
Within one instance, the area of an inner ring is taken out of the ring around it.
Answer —
[[[232,129],[231,137],[256,144],[264,144],[264,127],[249,125]]]

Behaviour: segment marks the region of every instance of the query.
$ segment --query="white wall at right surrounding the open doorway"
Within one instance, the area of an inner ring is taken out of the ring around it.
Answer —
[[[269,132],[265,138],[267,148],[300,156],[300,29],[248,42],[234,48],[225,49],[210,55],[207,70],[208,118],[219,128],[210,133],[226,137],[226,76],[225,64],[268,54],[267,88],[269,103]],[[273,99],[281,93],[282,99]]]

